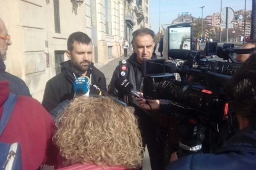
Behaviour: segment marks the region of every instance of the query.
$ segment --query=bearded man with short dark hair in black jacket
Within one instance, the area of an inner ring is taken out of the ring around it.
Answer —
[[[70,34],[67,39],[67,57],[70,60],[61,63],[61,73],[49,79],[43,96],[43,107],[51,111],[61,102],[74,97],[73,83],[80,76],[90,78],[90,88],[97,86],[100,95],[106,95],[105,75],[93,66],[93,44],[90,37],[82,32]],[[92,94],[93,91],[90,91]],[[56,117],[56,115],[52,115]]]

